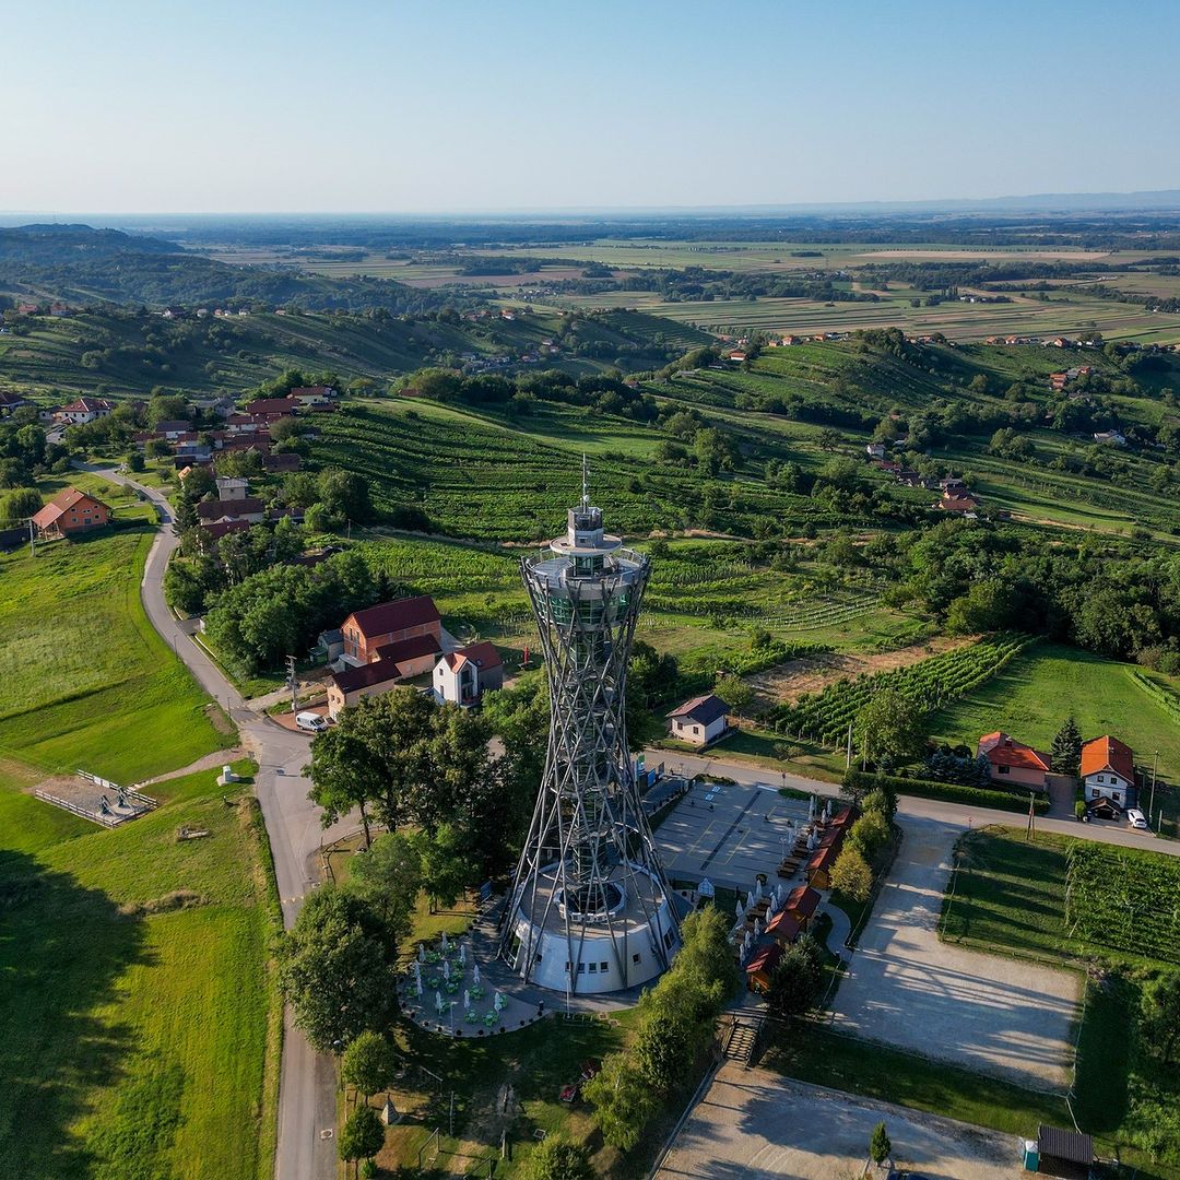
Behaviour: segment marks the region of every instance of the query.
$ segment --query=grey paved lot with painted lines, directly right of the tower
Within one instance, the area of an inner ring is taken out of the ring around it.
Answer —
[[[806,821],[806,800],[773,787],[697,782],[660,825],[656,846],[669,879],[708,877],[745,893],[755,873],[778,884],[775,870]]]

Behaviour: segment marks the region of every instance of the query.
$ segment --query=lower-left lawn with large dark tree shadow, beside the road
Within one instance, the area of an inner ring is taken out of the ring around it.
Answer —
[[[257,805],[212,771],[155,791],[158,811],[105,831],[0,766],[0,1175],[271,1173],[278,918]]]

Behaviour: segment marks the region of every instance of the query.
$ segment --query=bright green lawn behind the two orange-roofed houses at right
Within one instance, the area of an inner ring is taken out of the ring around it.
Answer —
[[[1160,752],[1159,773],[1180,782],[1180,722],[1135,682],[1147,669],[1092,655],[1079,648],[1038,643],[1017,656],[969,696],[935,714],[931,733],[975,747],[982,734],[1003,729],[1047,750],[1070,714],[1086,739],[1113,734],[1150,769]],[[1175,690],[1167,677],[1147,673]]]

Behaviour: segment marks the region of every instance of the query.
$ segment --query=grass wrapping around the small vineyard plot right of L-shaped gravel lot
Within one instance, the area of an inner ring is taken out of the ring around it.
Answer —
[[[1149,1174],[1180,1176],[1180,1083],[1148,1051],[1136,1014],[1140,989],[1165,964],[1074,937],[1066,926],[1066,854],[1071,838],[985,828],[961,845],[943,937],[979,950],[1089,968],[1079,1042],[1075,1114],[1083,1130]],[[1158,853],[1130,853],[1133,859]],[[1068,1126],[1068,1123],[1067,1123]],[[1172,1171],[1166,1171],[1171,1168]]]

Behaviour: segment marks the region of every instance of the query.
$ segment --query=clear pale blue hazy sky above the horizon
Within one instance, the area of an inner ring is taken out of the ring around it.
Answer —
[[[2,211],[1180,188],[1180,2],[0,0]]]

